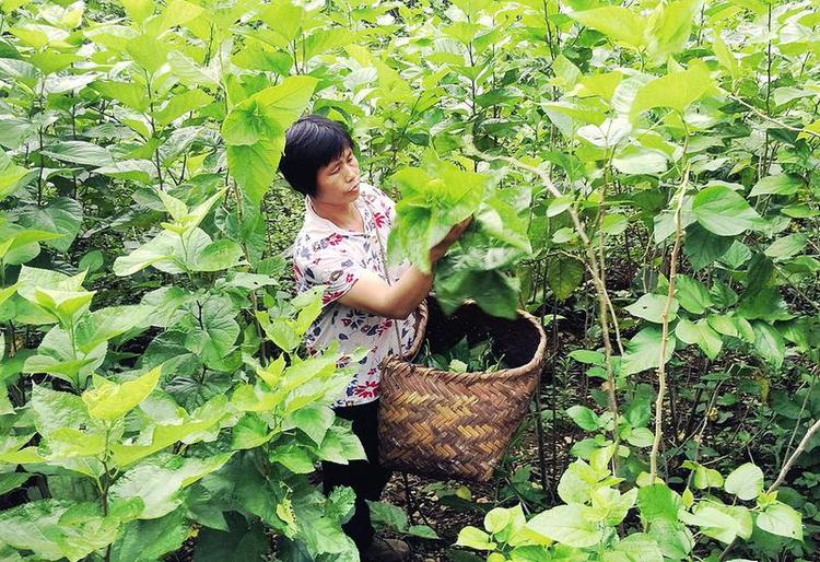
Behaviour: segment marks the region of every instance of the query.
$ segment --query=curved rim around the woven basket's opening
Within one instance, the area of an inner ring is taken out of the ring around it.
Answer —
[[[461,306],[466,304],[476,305],[476,302],[472,300],[468,300],[468,301],[465,301],[461,304]],[[528,375],[532,373],[534,370],[540,371],[540,367],[542,366],[542,363],[543,363],[543,355],[547,350],[547,333],[543,331],[543,326],[541,326],[541,323],[538,321],[538,318],[529,314],[527,311],[523,311],[523,309],[516,311],[517,319],[520,318],[531,324],[540,337],[538,341],[538,348],[536,348],[536,351],[532,354],[532,359],[530,359],[524,365],[519,365],[517,367],[512,367],[512,368],[501,368],[499,371],[491,371],[491,372],[470,371],[467,373],[456,373],[455,371],[442,371],[440,368],[427,367],[427,366],[419,365],[418,363],[413,363],[412,361],[410,361],[410,358],[417,355],[418,352],[421,350],[421,343],[424,341],[424,337],[426,335],[429,312],[427,312],[426,302],[423,302],[422,305],[423,306],[419,307],[420,318],[419,318],[419,325],[417,326],[415,341],[413,341],[413,344],[410,347],[410,349],[406,353],[401,355],[388,355],[387,358],[385,358],[385,360],[382,363],[383,375],[385,374],[385,371],[387,371],[387,368],[389,368],[390,366],[402,364],[402,363],[409,364],[411,366],[413,374],[418,373],[424,376],[435,376],[438,378],[446,376],[450,379],[462,379],[464,382],[492,378],[492,377],[516,378],[523,375]]]

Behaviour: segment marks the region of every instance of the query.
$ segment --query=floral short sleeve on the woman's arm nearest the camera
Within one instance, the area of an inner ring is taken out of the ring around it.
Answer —
[[[336,248],[318,251],[313,259],[294,258],[296,282],[301,290],[327,285],[321,303],[338,301],[359,281],[361,269],[350,256]]]

